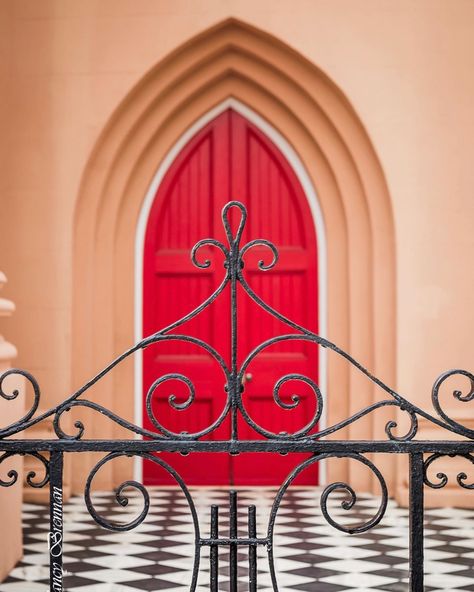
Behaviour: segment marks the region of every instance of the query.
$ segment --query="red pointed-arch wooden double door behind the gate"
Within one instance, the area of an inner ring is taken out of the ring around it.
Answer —
[[[252,288],[271,306],[317,331],[317,252],[312,215],[306,196],[291,166],[259,129],[229,109],[207,124],[181,151],[167,171],[151,208],[144,248],[143,332],[150,335],[184,316],[202,302],[223,278],[219,255],[209,251],[213,264],[197,269],[190,260],[191,247],[202,238],[225,243],[222,207],[230,200],[243,202],[248,219],[242,244],[265,238],[278,248],[280,259],[271,271],[258,269],[266,253],[248,253],[245,274]],[[288,328],[239,294],[239,361],[257,344]],[[175,333],[199,337],[230,356],[229,298],[225,293],[204,313]],[[173,432],[205,429],[222,411],[226,394],[224,376],[212,358],[196,345],[181,341],[155,344],[144,351],[144,401],[158,377],[184,374],[194,384],[196,397],[185,410],[169,404],[185,401],[183,382],[161,384],[153,397],[153,410],[161,425]],[[315,411],[315,398],[299,384],[300,404],[292,410],[280,408],[273,387],[283,375],[298,373],[317,381],[318,352],[308,343],[283,342],[259,354],[247,373],[243,400],[252,419],[273,432],[302,428]],[[288,385],[290,388],[291,385]],[[282,389],[282,398],[293,390]],[[291,399],[288,399],[291,402]],[[145,403],[144,403],[145,404]],[[144,426],[155,428],[144,411]],[[225,421],[208,439],[227,439]],[[239,422],[239,437],[258,439],[245,422]],[[193,453],[182,457],[161,455],[188,484],[280,484],[291,468],[307,455]],[[299,483],[315,484],[317,466],[304,472]],[[144,463],[144,481],[167,482],[166,475],[152,463]]]

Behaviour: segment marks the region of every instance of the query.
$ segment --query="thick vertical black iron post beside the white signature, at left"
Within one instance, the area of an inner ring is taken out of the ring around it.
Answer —
[[[63,453],[49,461],[49,589],[63,590]]]

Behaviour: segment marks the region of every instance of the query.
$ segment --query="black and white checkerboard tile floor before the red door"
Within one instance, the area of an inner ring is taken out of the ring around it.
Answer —
[[[221,506],[220,534],[227,532],[227,492],[192,489],[201,534],[209,534],[209,508]],[[293,488],[282,504],[275,537],[276,566],[280,591],[359,592],[405,591],[408,587],[407,511],[389,502],[382,523],[361,535],[345,535],[329,526],[321,515],[316,489]],[[137,592],[165,590],[184,592],[191,580],[193,532],[186,500],[175,489],[150,488],[148,518],[130,532],[111,532],[90,518],[81,497],[73,497],[64,508],[64,589],[77,592]],[[275,490],[259,488],[239,491],[240,534],[246,535],[247,506],[257,506],[259,536],[264,536]],[[130,520],[140,509],[140,498],[131,496],[126,508],[117,507],[111,493],[96,494],[101,515]],[[350,511],[340,499],[331,501],[335,518],[363,521],[376,511],[378,499],[360,496]],[[45,592],[48,583],[48,508],[25,504],[25,556],[0,592]],[[453,508],[426,511],[426,591],[474,591],[474,511]],[[209,550],[203,549],[198,592],[208,592]],[[227,591],[228,551],[219,555],[219,590]],[[240,589],[248,589],[245,549],[239,549]],[[258,588],[270,592],[271,580],[266,553],[259,548]]]

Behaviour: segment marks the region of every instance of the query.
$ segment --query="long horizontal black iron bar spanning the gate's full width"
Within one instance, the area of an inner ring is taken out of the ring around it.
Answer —
[[[474,451],[474,440],[0,440],[0,451],[27,453],[48,452],[439,452],[465,454]]]

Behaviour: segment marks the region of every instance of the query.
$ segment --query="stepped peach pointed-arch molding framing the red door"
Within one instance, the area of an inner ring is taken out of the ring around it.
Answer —
[[[380,378],[395,380],[395,253],[389,194],[370,139],[337,86],[274,37],[236,20],[191,39],[157,64],[112,115],[86,166],[74,237],[73,381],[81,384],[134,338],[134,240],[154,174],[177,138],[234,97],[292,145],[320,200],[327,232],[328,337]],[[101,402],[133,418],[133,364],[116,369]],[[377,394],[345,363],[328,360],[328,424]],[[384,411],[338,437],[383,433]],[[97,419],[89,437],[115,434]],[[77,486],[90,459],[77,461]],[[386,461],[388,462],[388,461]],[[129,469],[119,469],[120,476]],[[331,470],[331,467],[330,467]],[[329,478],[351,478],[334,466]],[[394,465],[384,470],[390,482]],[[108,484],[105,475],[104,485]],[[119,478],[118,475],[116,475]],[[365,476],[351,483],[367,488]]]

